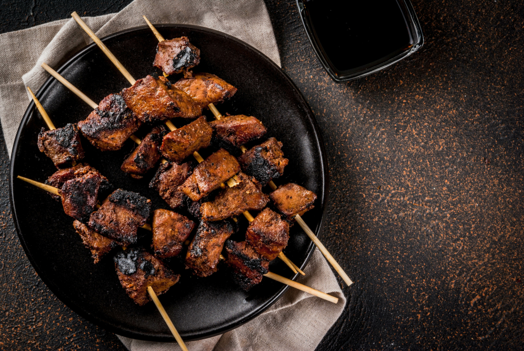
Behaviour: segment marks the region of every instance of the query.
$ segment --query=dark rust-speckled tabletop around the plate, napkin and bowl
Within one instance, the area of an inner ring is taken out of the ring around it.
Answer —
[[[0,32],[128,2],[0,0]],[[522,349],[524,3],[413,0],[424,47],[343,84],[322,70],[295,3],[266,5],[282,69],[323,133],[321,238],[355,281],[317,350]],[[30,266],[9,213],[4,142],[0,172],[0,348],[124,349]]]

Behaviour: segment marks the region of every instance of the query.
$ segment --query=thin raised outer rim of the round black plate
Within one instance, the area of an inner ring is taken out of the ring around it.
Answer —
[[[254,48],[253,46],[250,46],[248,43],[246,43],[246,42],[244,42],[244,41],[242,41],[242,40],[240,40],[238,38],[235,38],[235,37],[233,37],[231,35],[228,35],[228,34],[225,34],[223,32],[220,32],[220,31],[217,31],[217,30],[214,30],[214,29],[210,29],[210,28],[205,28],[205,27],[200,27],[200,26],[193,26],[193,25],[184,25],[184,24],[157,24],[157,25],[155,25],[155,27],[157,27],[157,28],[180,27],[180,28],[198,29],[198,30],[202,30],[202,31],[212,32],[212,33],[217,34],[217,35],[225,36],[225,37],[227,37],[227,38],[229,38],[229,39],[231,39],[233,41],[236,41],[237,43],[245,46],[247,49],[254,51],[259,56],[261,56],[263,59],[265,59],[266,61],[270,62],[271,65],[273,65],[278,71],[280,71],[283,74],[284,78],[288,81],[288,83],[290,83],[295,88],[295,92],[298,93],[298,97],[300,98],[300,100],[302,101],[303,105],[305,106],[305,109],[308,112],[306,114],[307,118],[309,119],[309,122],[312,124],[313,129],[315,131],[314,137],[315,137],[316,145],[319,148],[319,153],[320,153],[320,156],[321,156],[320,161],[322,162],[322,170],[323,170],[323,172],[322,172],[323,199],[322,199],[322,202],[321,202],[322,203],[322,216],[321,216],[320,225],[318,226],[318,229],[316,229],[316,231],[315,231],[315,235],[319,236],[319,234],[322,232],[322,229],[323,229],[323,226],[324,226],[325,214],[326,214],[326,210],[327,210],[326,204],[327,204],[327,201],[329,199],[329,172],[328,172],[327,161],[326,161],[326,157],[325,157],[325,149],[324,149],[322,135],[320,133],[319,125],[318,125],[318,123],[316,123],[316,120],[313,118],[314,115],[313,115],[313,112],[311,111],[311,107],[309,106],[307,101],[305,101],[304,96],[302,95],[302,93],[300,92],[300,90],[298,89],[296,84],[294,84],[294,82],[289,78],[289,76],[286,74],[286,72],[284,72],[274,61],[272,61],[270,58],[268,58],[263,52],[259,51],[258,49]],[[122,30],[122,31],[115,32],[115,33],[113,33],[111,35],[108,35],[106,37],[103,37],[103,38],[101,38],[101,40],[102,41],[110,40],[110,39],[112,39],[112,38],[114,38],[116,36],[127,34],[128,32],[133,32],[133,31],[137,31],[137,30],[143,30],[143,29],[147,29],[147,28],[148,28],[148,26],[139,26],[139,27],[133,27],[133,28],[125,29],[125,30]],[[95,47],[96,47],[96,43],[91,43],[90,45],[86,46],[85,48],[80,50],[78,53],[74,54],[69,60],[64,62],[60,66],[60,68],[57,69],[57,72],[60,73],[62,70],[67,68],[73,61],[75,61],[79,57],[83,56],[87,51],[93,50]],[[54,81],[53,76],[50,76],[42,84],[40,89],[38,89],[38,91],[37,91],[37,93],[35,95],[37,97],[40,97],[43,94],[43,92],[46,91],[48,86],[53,81]],[[35,269],[35,271],[37,272],[39,278],[42,279],[42,281],[46,284],[46,286],[49,287],[51,292],[54,295],[56,295],[56,297],[60,301],[62,301],[65,305],[67,305],[73,312],[77,313],[78,315],[80,315],[84,319],[88,320],[89,322],[91,322],[91,323],[93,323],[95,325],[99,325],[100,327],[104,328],[105,330],[108,330],[108,331],[113,332],[113,333],[118,334],[118,335],[129,337],[129,338],[137,338],[137,339],[141,339],[141,340],[145,340],[145,341],[176,342],[171,334],[165,334],[165,335],[150,335],[150,334],[145,334],[145,333],[138,333],[137,334],[134,331],[122,329],[122,327],[118,327],[118,326],[115,326],[113,324],[106,323],[105,321],[99,319],[97,316],[84,311],[80,306],[78,306],[76,303],[74,303],[73,301],[68,299],[65,295],[63,295],[60,292],[60,289],[55,284],[53,284],[51,281],[49,281],[45,276],[40,275],[40,271],[41,270],[38,267],[38,265],[36,264],[34,258],[28,253],[28,249],[27,249],[25,240],[20,235],[20,229],[19,229],[19,224],[18,224],[18,217],[17,217],[16,211],[15,211],[14,193],[13,193],[13,191],[14,191],[14,189],[13,189],[13,187],[14,187],[14,179],[16,178],[15,174],[14,174],[14,164],[15,164],[15,158],[16,158],[15,150],[18,147],[18,141],[20,139],[21,130],[23,129],[23,126],[27,123],[27,120],[29,119],[31,114],[34,112],[34,109],[35,109],[35,103],[33,101],[31,101],[29,103],[27,109],[26,109],[26,112],[24,113],[23,118],[20,121],[20,125],[18,126],[18,130],[17,130],[16,136],[15,136],[15,141],[13,143],[11,159],[10,159],[10,162],[9,162],[9,166],[10,166],[9,167],[9,202],[10,202],[10,206],[11,206],[11,213],[13,215],[13,222],[15,224],[15,229],[16,229],[17,236],[18,236],[18,238],[20,240],[20,244],[22,245],[22,247],[24,249],[24,253],[26,254],[27,258],[29,259],[30,264]],[[303,264],[300,266],[300,269],[303,270],[304,267],[307,266],[308,262],[311,259],[312,254],[313,254],[313,251],[314,251],[314,244],[313,244],[313,242],[311,242],[309,247],[308,247],[308,255],[305,258]],[[296,280],[298,275],[299,275],[299,273],[296,273],[291,279],[292,280]],[[187,341],[196,341],[196,340],[199,340],[199,339],[204,339],[204,338],[209,338],[209,337],[213,337],[213,336],[216,336],[216,335],[220,335],[220,334],[223,334],[223,333],[225,333],[227,331],[233,330],[234,328],[239,327],[239,326],[247,323],[248,321],[254,319],[258,315],[260,315],[261,313],[266,311],[288,289],[289,289],[289,286],[286,286],[286,285],[283,286],[275,294],[275,296],[272,299],[267,301],[264,305],[261,305],[253,313],[250,313],[249,315],[245,316],[244,319],[242,319],[241,321],[237,321],[236,323],[233,323],[233,325],[224,326],[222,328],[217,329],[216,331],[214,331],[212,333],[202,333],[201,335],[197,334],[198,336],[193,336],[193,337],[191,337],[191,336],[188,337],[188,336],[184,336],[184,335],[181,335],[181,336],[183,336],[184,339],[186,339]],[[58,291],[58,293],[56,291]]]

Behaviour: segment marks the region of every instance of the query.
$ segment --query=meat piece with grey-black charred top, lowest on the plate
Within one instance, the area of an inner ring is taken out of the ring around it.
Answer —
[[[180,278],[180,275],[167,268],[161,260],[143,250],[120,251],[113,260],[122,287],[140,306],[151,301],[147,287],[151,287],[160,295],[168,291]]]

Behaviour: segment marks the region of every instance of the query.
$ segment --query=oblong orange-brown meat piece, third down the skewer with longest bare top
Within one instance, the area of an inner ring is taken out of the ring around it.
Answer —
[[[239,170],[240,165],[236,158],[226,150],[220,149],[196,166],[193,174],[179,189],[192,201],[199,201],[220,188],[220,184],[233,177]]]

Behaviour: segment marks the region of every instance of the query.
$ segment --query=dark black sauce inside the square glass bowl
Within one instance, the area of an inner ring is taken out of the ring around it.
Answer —
[[[373,67],[414,43],[397,0],[309,0],[304,15],[337,75]]]

